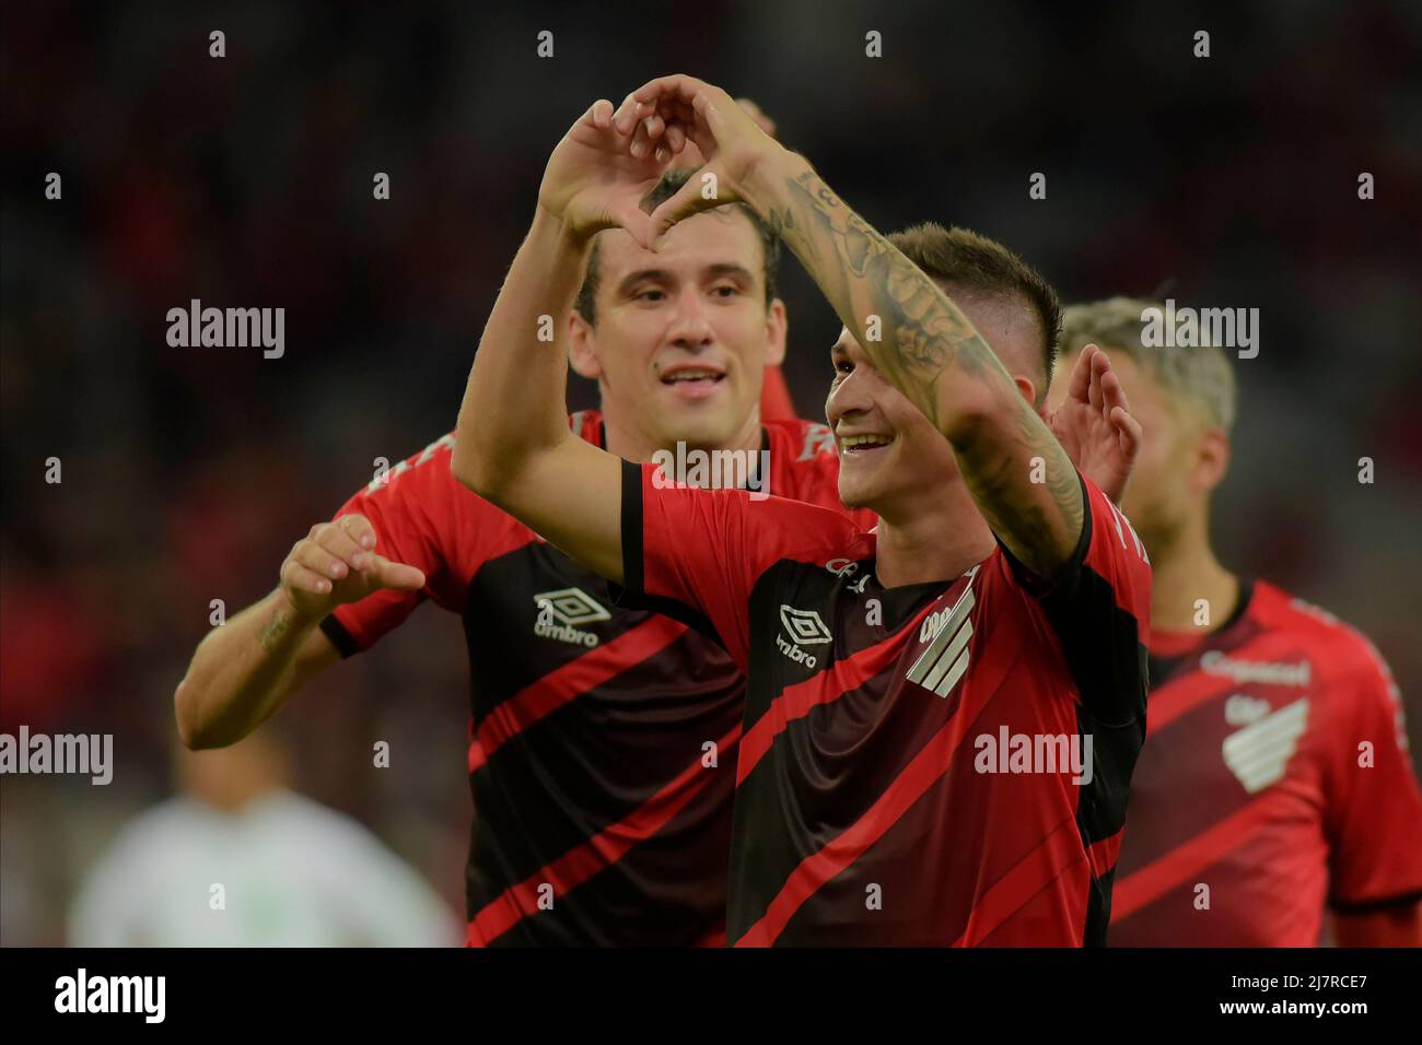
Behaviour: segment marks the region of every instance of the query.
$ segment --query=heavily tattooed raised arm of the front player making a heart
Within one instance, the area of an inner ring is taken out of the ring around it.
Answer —
[[[993,530],[1032,573],[1054,577],[1084,525],[1075,468],[963,311],[725,91],[664,77],[633,98],[638,107],[620,119],[654,115],[665,124],[661,135],[656,124],[637,124],[638,139],[675,149],[690,138],[708,158],[702,176],[653,213],[650,242],[714,203],[749,203],[801,259],[875,368],[953,444]],[[711,199],[705,175],[715,176]],[[1031,481],[1037,458],[1044,483]]]

